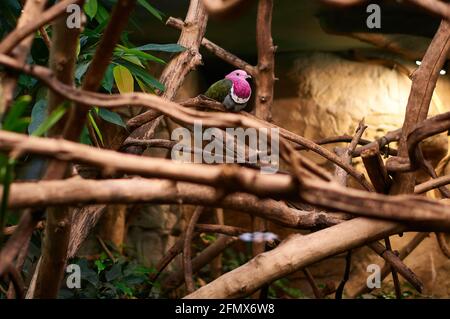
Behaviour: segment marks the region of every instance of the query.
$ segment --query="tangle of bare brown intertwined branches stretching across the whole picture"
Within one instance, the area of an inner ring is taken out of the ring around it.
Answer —
[[[169,18],[167,21],[168,25],[181,30],[179,43],[187,50],[174,57],[163,71],[161,81],[166,85],[166,91],[161,96],[145,93],[106,95],[96,92],[115,44],[134,7],[134,1],[118,2],[94,56],[95,63],[91,64],[81,88],[73,86],[73,70],[70,65],[63,69],[58,68],[58,65],[52,65],[51,68],[29,65],[25,59],[26,51],[19,56],[11,53],[20,43],[26,42],[29,48],[29,39],[34,32],[63,15],[67,5],[82,1],[58,2],[44,10],[35,20],[20,23],[0,42],[0,64],[7,70],[31,75],[51,90],[53,98],[66,99],[74,103],[73,112],[62,123],[62,127],[52,133],[54,137],[63,137],[66,140],[29,137],[0,131],[0,151],[10,158],[17,159],[27,154],[38,154],[52,159],[45,180],[14,182],[11,185],[8,207],[32,210],[25,211],[17,227],[8,229],[11,237],[0,252],[0,275],[8,274],[16,296],[23,296],[20,274],[11,265],[21,253],[22,246],[29,241],[32,231],[41,225],[39,222],[45,208],[50,208],[51,212],[45,224],[47,237],[56,236],[52,235],[52,232],[57,230],[62,229],[63,233],[54,237],[62,238],[62,241],[57,244],[50,241],[44,246],[43,258],[38,267],[40,270],[36,275],[37,297],[56,296],[61,280],[61,269],[67,256],[73,254],[80,244],[77,242],[76,245],[69,246],[70,239],[73,240],[73,232],[70,232],[71,219],[66,218],[69,215],[65,215],[68,214],[68,207],[82,206],[83,214],[96,216],[89,222],[85,219],[76,222],[76,229],[83,232],[82,238],[77,239],[81,241],[98,220],[103,205],[182,203],[197,205],[198,208],[186,232],[161,259],[156,267],[157,273],[152,275],[151,279],[155,280],[175,256],[183,253],[184,272],[175,272],[168,276],[163,281],[164,291],[177,288],[184,280],[190,293],[188,298],[244,297],[264,286],[267,287],[278,278],[303,269],[311,286],[316,288],[316,296],[322,296],[305,267],[363,245],[369,245],[386,260],[383,277],[388,271],[392,271],[393,274],[399,273],[420,291],[422,289],[420,279],[406,267],[402,259],[423,240],[426,234],[415,238],[399,256],[392,252],[389,236],[412,230],[450,232],[450,205],[446,201],[419,195],[450,183],[448,176],[435,178],[434,169],[424,160],[420,149],[420,143],[425,138],[450,129],[450,113],[426,119],[439,71],[450,50],[450,27],[447,20],[442,21],[420,68],[412,77],[413,85],[402,128],[376,141],[362,138],[365,128],[363,125],[359,127],[355,136],[328,137],[321,141],[311,141],[270,122],[275,81],[275,46],[271,37],[272,1],[260,0],[258,4],[256,66],[248,64],[204,37],[208,10],[213,14],[229,10],[218,7],[214,1],[205,2],[206,8],[202,1],[192,0],[185,21],[175,18]],[[239,2],[230,1],[229,5],[234,7],[239,5]],[[326,2],[349,5],[362,1]],[[445,3],[409,2],[444,18],[450,16],[448,5]],[[34,10],[36,11],[33,12],[37,12],[42,10],[42,7]],[[25,10],[25,14],[29,15],[30,12]],[[54,28],[54,31],[57,31],[57,27]],[[58,45],[58,32],[62,32],[60,37],[65,35],[64,30],[61,30],[53,33],[52,52],[73,53],[71,47]],[[76,40],[77,34],[74,34],[72,39]],[[202,96],[183,103],[173,101],[187,74],[201,63],[200,46],[204,46],[225,62],[246,70],[256,78],[255,115],[246,112],[225,113],[220,103]],[[128,154],[75,142],[81,132],[88,108],[92,105],[111,109],[123,106],[147,109],[127,123],[132,132],[123,139],[120,149]],[[254,168],[238,165],[189,164],[141,156],[148,147],[171,149],[174,146],[173,141],[154,139],[155,130],[163,117],[186,127],[201,121],[204,127],[221,129],[228,127],[277,129],[280,133],[280,157],[288,169],[283,173],[265,175]],[[399,141],[398,151],[385,149],[391,141]],[[350,144],[336,153],[321,146],[336,142]],[[335,176],[303,157],[301,152],[304,150],[315,152],[336,165]],[[381,153],[394,156],[390,157],[385,165]],[[351,164],[352,158],[358,156],[361,156],[364,162],[370,181],[363,172]],[[69,176],[67,169],[72,164],[96,167],[105,178],[101,180],[83,179],[80,176],[67,178]],[[430,174],[435,179],[415,185],[414,173],[422,168],[431,171]],[[348,188],[348,176],[352,176],[362,190]],[[289,204],[291,202],[308,204],[305,205],[308,209],[293,208]],[[101,205],[87,206],[99,204]],[[308,229],[311,233],[292,235],[272,250],[257,254],[248,263],[195,291],[193,274],[236,242],[235,236],[247,231],[227,225],[198,224],[203,207],[233,209],[283,227]],[[79,214],[80,210],[73,212]],[[191,241],[198,232],[216,232],[222,235],[214,244],[192,258]],[[445,250],[447,247],[445,241],[442,236],[438,238]],[[385,246],[377,242],[381,239],[385,239]],[[61,245],[57,246],[59,244]],[[338,288],[337,297],[342,296],[345,282],[348,280],[350,261],[348,258],[344,280]],[[50,278],[54,271],[50,265],[57,265],[58,276],[55,277],[58,278]],[[43,286],[47,281],[52,282],[50,288]]]

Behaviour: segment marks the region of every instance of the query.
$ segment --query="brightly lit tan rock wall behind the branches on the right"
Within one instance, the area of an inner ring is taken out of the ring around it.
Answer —
[[[406,66],[410,69],[415,67],[413,64]],[[369,139],[380,137],[403,123],[411,80],[395,69],[350,61],[336,54],[312,53],[300,55],[285,75],[278,76],[289,77],[296,93],[275,101],[274,122],[307,138],[353,135],[362,118],[368,125],[364,137]],[[449,110],[449,88],[448,77],[442,76],[432,100],[430,114]],[[442,134],[426,142],[424,153],[437,164],[447,154],[447,136]],[[320,164],[325,162],[310,152],[305,154]],[[358,165],[359,162],[355,162]],[[332,169],[329,165],[327,167]],[[393,248],[400,249],[413,235],[393,236]],[[366,272],[370,263],[382,265],[383,260],[367,248],[356,250],[350,281],[346,286],[348,294],[365,283],[366,277],[370,275]],[[450,260],[439,250],[434,234],[406,259],[406,264],[424,281],[424,294],[450,296]],[[340,255],[320,262],[310,267],[310,270],[319,283],[330,279],[339,283],[344,267],[344,255]],[[301,273],[293,274],[293,277],[299,278],[302,290],[311,295]],[[383,282],[381,289],[385,288],[391,288],[390,279]],[[404,289],[413,290],[407,285],[404,285]]]

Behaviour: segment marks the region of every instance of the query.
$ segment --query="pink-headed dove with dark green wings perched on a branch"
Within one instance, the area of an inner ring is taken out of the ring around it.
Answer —
[[[251,78],[244,70],[235,70],[224,79],[209,87],[205,95],[222,103],[228,111],[239,112],[247,106],[252,88],[247,82]]]

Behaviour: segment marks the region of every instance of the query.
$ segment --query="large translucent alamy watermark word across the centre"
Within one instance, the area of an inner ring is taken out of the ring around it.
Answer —
[[[204,130],[202,123],[195,121],[193,138],[189,129],[180,127],[172,131],[171,139],[178,141],[171,152],[176,161],[254,164],[263,174],[274,174],[279,169],[278,128],[220,130],[211,127]]]

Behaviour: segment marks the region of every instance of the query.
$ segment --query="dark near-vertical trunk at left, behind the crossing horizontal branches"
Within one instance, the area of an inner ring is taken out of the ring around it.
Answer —
[[[83,4],[81,2],[80,4]],[[77,46],[80,29],[67,27],[68,13],[59,17],[52,24],[52,47],[50,50],[50,68],[56,79],[66,85],[74,85],[74,72],[77,59]],[[48,114],[51,114],[64,102],[64,97],[50,92],[48,98]],[[49,136],[63,135],[63,122],[57,123],[49,132]],[[44,179],[62,179],[67,176],[70,163],[52,160],[44,173]],[[34,297],[56,298],[59,286],[64,277],[69,245],[72,216],[68,207],[50,208],[47,211],[45,240],[42,245],[40,267],[36,268],[36,289]]]

